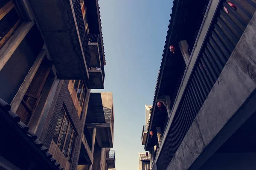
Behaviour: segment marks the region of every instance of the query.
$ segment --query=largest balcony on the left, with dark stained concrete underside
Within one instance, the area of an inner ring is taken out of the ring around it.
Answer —
[[[58,77],[88,79],[90,51],[85,38],[87,32],[80,0],[30,0],[29,2]],[[91,10],[97,11],[96,8]]]

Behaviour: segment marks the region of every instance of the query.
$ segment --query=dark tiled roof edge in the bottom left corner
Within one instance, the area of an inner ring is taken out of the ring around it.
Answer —
[[[37,139],[37,136],[29,130],[29,127],[21,122],[20,117],[10,109],[11,106],[0,99],[1,130],[5,130],[6,132],[9,131],[9,136],[12,136],[19,141],[17,145],[21,145],[22,147],[25,147],[27,150],[29,150],[28,153],[24,153],[25,156],[27,154],[34,155],[36,159],[44,164],[45,167],[47,167],[49,170],[63,170],[63,167],[61,167],[56,159],[52,157],[52,154],[48,152],[47,147],[45,147],[43,143]],[[8,141],[6,136],[3,140]],[[11,142],[13,142],[13,140]],[[17,152],[20,150],[17,150]]]

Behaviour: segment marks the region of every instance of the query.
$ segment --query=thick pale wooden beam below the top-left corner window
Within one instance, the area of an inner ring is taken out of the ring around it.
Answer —
[[[34,21],[22,23],[6,44],[3,45],[3,48],[0,49],[0,71],[33,25]]]

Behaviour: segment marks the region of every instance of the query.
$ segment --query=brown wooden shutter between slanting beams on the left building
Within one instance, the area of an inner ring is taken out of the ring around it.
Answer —
[[[20,116],[21,121],[26,125],[28,124],[32,113],[35,111],[50,69],[51,64],[49,60],[45,58],[35,73],[35,76],[16,111],[16,114]]]

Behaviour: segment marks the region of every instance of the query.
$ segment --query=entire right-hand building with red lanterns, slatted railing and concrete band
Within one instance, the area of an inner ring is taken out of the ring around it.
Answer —
[[[152,170],[256,169],[256,1],[173,3],[145,139]]]

